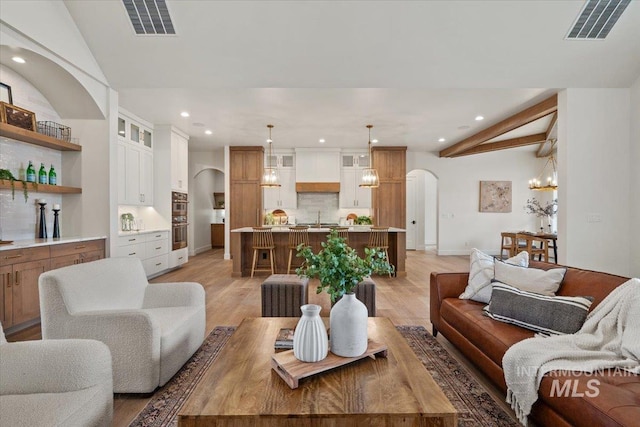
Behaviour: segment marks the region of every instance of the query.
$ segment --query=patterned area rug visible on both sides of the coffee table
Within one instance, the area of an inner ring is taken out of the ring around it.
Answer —
[[[418,359],[458,411],[458,426],[517,427],[485,389],[422,326],[398,326]],[[217,326],[183,368],[154,393],[130,427],[173,427],[178,412],[235,330]]]

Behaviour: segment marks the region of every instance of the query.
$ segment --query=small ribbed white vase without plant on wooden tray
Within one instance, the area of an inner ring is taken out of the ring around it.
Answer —
[[[302,317],[293,332],[293,355],[302,362],[319,362],[329,353],[329,339],[320,318],[322,307],[306,304],[300,307]]]

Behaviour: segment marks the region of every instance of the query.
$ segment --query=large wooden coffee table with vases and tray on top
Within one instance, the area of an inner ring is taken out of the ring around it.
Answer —
[[[362,359],[291,389],[271,368],[271,356],[280,328],[297,322],[243,320],[180,410],[178,425],[456,426],[456,410],[387,318],[371,317],[368,325],[369,338],[387,345],[386,358]]]

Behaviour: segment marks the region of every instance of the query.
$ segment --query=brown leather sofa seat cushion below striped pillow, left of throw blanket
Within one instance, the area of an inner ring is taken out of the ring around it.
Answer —
[[[507,349],[523,339],[533,337],[534,333],[487,317],[482,311],[483,307],[484,304],[471,300],[446,298],[440,307],[440,317],[498,366],[502,366],[502,357]]]

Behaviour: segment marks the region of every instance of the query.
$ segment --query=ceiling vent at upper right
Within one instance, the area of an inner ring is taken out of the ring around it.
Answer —
[[[588,0],[567,39],[604,39],[630,2],[631,0]]]

